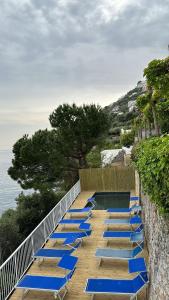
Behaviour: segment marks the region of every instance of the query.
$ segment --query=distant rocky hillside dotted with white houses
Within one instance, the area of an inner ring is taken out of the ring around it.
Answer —
[[[105,107],[105,111],[111,116],[112,130],[119,128],[130,128],[132,120],[137,116],[135,107],[136,99],[146,91],[146,83],[139,81],[137,86],[130,90],[126,95],[119,98],[116,102]]]

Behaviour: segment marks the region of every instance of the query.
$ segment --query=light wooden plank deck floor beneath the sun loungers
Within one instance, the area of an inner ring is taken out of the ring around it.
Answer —
[[[86,204],[86,200],[93,195],[93,192],[82,192],[73,204],[73,208],[82,208]],[[67,217],[67,216],[66,216]],[[77,263],[77,268],[70,282],[68,283],[68,294],[65,300],[89,300],[90,296],[84,293],[87,278],[132,278],[133,275],[128,274],[127,262],[111,261],[106,260],[102,262],[102,265],[98,267],[98,261],[95,258],[95,251],[98,247],[106,246],[105,240],[102,238],[105,226],[103,224],[104,219],[107,217],[106,211],[104,210],[94,210],[93,216],[90,219],[92,224],[92,235],[87,237],[83,241],[83,245],[77,249],[73,255],[78,256],[79,260]],[[77,227],[69,227],[68,225],[64,230],[69,231],[76,230]],[[57,231],[63,230],[63,226],[59,225]],[[123,229],[121,227],[121,229]],[[125,228],[127,229],[127,228]],[[46,246],[51,248],[52,242],[48,241]],[[126,240],[123,243],[119,241],[114,241],[109,244],[109,246],[123,248],[130,247],[129,242]],[[56,247],[61,247],[58,243]],[[31,268],[28,271],[29,274],[35,275],[49,275],[58,276],[64,275],[62,270],[56,267],[56,260],[45,260],[40,266],[37,261],[34,261]],[[16,290],[10,297],[11,300],[16,300],[21,298],[21,291]],[[138,296],[138,300],[146,300],[145,291]],[[54,299],[52,293],[48,292],[38,292],[29,291],[25,297],[25,300],[50,300]],[[114,300],[128,300],[128,297],[121,296],[95,296],[94,299],[114,299]]]

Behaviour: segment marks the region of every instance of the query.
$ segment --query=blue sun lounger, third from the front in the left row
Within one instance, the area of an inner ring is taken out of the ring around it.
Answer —
[[[82,242],[82,238],[90,236],[91,232],[91,230],[84,230],[78,232],[54,232],[49,236],[49,239],[62,239],[64,240],[63,245],[73,247],[72,244],[74,244],[76,240],[80,239],[80,241]]]

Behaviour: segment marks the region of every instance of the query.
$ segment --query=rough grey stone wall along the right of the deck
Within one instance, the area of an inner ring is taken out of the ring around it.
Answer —
[[[169,218],[159,215],[155,205],[142,195],[145,237],[149,252],[149,300],[169,300]]]

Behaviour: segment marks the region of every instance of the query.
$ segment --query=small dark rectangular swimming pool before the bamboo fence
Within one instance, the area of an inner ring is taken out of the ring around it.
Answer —
[[[95,193],[96,210],[106,210],[108,208],[128,208],[130,202],[130,192],[100,192]],[[90,206],[88,204],[87,206]]]

